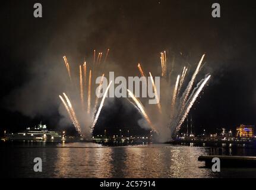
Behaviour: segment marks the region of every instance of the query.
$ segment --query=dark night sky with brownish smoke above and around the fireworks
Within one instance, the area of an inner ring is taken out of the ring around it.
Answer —
[[[36,2],[42,3],[43,18],[33,17]],[[13,94],[16,100],[20,96],[15,90],[30,83],[39,70],[44,75],[45,62],[52,64],[52,60],[57,59],[63,64],[63,55],[71,62],[81,62],[93,49],[105,51],[108,48],[110,59],[130,76],[134,75],[137,69],[134,65],[138,62],[154,71],[162,50],[176,56],[182,52],[192,65],[191,75],[201,55],[206,53],[206,65],[197,80],[208,72],[212,78],[191,110],[196,130],[215,131],[239,124],[256,124],[256,7],[253,1],[217,1],[221,18],[213,18],[211,5],[214,2],[2,2],[1,132],[6,128],[23,129],[41,120],[54,128],[60,117],[58,105],[39,102],[48,105],[44,107],[49,110],[48,115],[24,114],[15,109],[16,102],[12,102]],[[39,84],[38,88],[45,87]],[[32,90],[31,96],[36,96],[36,91]],[[22,105],[33,107],[31,99],[21,98],[20,101]],[[137,125],[138,113],[135,110],[128,113],[122,107],[122,100],[116,101],[119,102],[116,109],[109,106],[103,109],[108,119],[102,118],[98,128]],[[34,106],[37,105],[34,102]]]

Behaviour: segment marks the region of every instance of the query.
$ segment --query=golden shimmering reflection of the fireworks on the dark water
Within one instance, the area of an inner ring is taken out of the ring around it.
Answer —
[[[76,144],[77,145],[77,144]],[[75,145],[75,147],[76,147]],[[97,147],[97,146],[96,146]],[[198,178],[209,177],[198,147],[58,148],[55,176],[82,178]],[[71,159],[72,158],[72,159]]]

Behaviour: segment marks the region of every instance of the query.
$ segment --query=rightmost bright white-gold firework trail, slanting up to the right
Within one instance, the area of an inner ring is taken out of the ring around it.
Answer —
[[[179,129],[181,128],[181,125],[183,124],[183,122],[185,121],[185,119],[187,118],[187,115],[189,113],[189,110],[191,109],[191,107],[194,105],[195,100],[197,100],[197,97],[199,96],[199,94],[201,93],[201,91],[204,88],[204,85],[206,85],[206,83],[208,82],[208,80],[210,80],[211,75],[209,75],[204,82],[200,85],[200,87],[198,88],[198,90],[195,92],[194,96],[192,97],[192,100],[189,102],[187,109],[184,112],[184,115],[182,115],[181,120],[179,121],[179,124],[176,128],[176,131],[179,131]]]

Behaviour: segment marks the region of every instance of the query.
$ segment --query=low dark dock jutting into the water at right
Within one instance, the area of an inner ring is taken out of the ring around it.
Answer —
[[[200,156],[198,161],[204,161],[206,167],[211,167],[214,157],[220,159],[220,167],[256,167],[256,156]]]

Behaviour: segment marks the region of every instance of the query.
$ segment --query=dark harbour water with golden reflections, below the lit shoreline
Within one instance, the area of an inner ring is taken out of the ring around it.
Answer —
[[[256,177],[256,169],[222,169],[213,173],[198,156],[214,150],[227,155],[256,156],[253,147],[136,145],[104,147],[93,143],[21,143],[1,145],[1,173],[12,178],[236,178]],[[219,151],[219,149],[221,151]],[[42,158],[43,172],[33,170]]]

